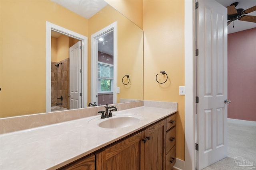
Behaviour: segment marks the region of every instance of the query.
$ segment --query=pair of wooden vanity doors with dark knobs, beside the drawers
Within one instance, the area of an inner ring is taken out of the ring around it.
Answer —
[[[165,169],[165,133],[164,119],[96,153],[96,170]]]

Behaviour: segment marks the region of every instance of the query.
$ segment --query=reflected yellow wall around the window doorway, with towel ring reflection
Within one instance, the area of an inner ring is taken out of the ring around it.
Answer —
[[[101,12],[89,19],[88,42],[91,41],[92,34],[115,21],[117,21],[118,30],[117,86],[120,87],[117,102],[119,102],[120,98],[143,100],[143,31],[108,5],[103,8]],[[90,51],[90,43],[88,44],[88,51]],[[88,56],[90,56],[90,54]],[[88,63],[90,62],[89,57]],[[122,84],[122,77],[127,74],[130,76],[130,83],[125,86]],[[90,73],[88,80],[90,80]],[[90,83],[88,83],[88,85],[89,84]],[[88,88],[88,90],[90,90],[90,88]],[[90,92],[88,92],[88,101],[90,101]]]

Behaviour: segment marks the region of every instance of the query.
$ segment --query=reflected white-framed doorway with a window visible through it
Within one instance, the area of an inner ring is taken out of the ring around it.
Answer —
[[[116,23],[92,35],[92,102],[116,103]]]

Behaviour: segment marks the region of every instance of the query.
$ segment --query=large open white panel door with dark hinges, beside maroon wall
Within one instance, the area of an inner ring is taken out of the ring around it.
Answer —
[[[196,39],[196,168],[227,156],[227,9],[214,0],[198,0]]]

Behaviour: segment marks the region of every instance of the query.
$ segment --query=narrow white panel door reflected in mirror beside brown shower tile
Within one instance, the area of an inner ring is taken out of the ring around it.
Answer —
[[[81,42],[78,41],[69,48],[69,89],[70,89],[70,109],[81,107]]]

